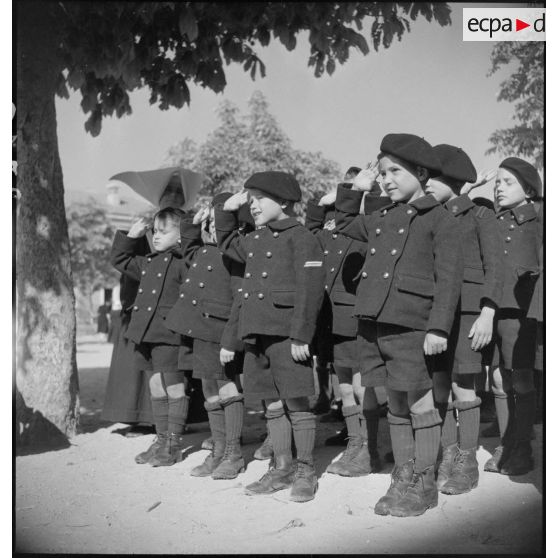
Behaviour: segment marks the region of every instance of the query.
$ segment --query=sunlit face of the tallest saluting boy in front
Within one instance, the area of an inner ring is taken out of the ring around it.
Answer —
[[[409,202],[424,195],[419,179],[422,169],[415,169],[395,155],[382,155],[378,167],[381,186],[391,201]]]

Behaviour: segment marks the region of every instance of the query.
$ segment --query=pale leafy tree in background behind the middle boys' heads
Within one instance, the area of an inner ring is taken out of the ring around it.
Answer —
[[[165,159],[170,166],[187,161],[189,168],[208,177],[200,192],[203,201],[219,192],[240,190],[251,174],[263,170],[294,174],[301,185],[303,202],[330,190],[340,180],[341,169],[336,162],[320,152],[292,147],[261,92],[256,91],[249,99],[247,114],[241,114],[230,101],[223,101],[217,114],[219,126],[199,148],[186,138],[171,147]]]

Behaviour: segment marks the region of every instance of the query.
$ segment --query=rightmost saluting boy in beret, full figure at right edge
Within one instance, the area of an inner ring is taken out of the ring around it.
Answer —
[[[540,268],[541,229],[532,200],[541,188],[537,170],[526,161],[508,157],[500,164],[494,193],[504,244],[504,286],[496,315],[499,369],[493,371],[492,390],[501,442],[484,470],[505,475],[522,475],[534,467],[530,439],[536,412],[537,324],[527,312]]]

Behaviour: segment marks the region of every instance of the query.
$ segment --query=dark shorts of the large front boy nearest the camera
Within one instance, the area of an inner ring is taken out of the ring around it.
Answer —
[[[365,387],[397,391],[432,387],[424,355],[425,331],[374,320],[359,320],[359,369]]]

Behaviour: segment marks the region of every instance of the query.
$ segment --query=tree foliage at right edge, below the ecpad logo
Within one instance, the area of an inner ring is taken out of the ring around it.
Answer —
[[[488,73],[516,66],[498,94],[499,101],[514,103],[516,124],[491,134],[492,147],[486,153],[525,157],[540,170],[544,166],[544,59],[544,42],[501,42],[492,50]]]

